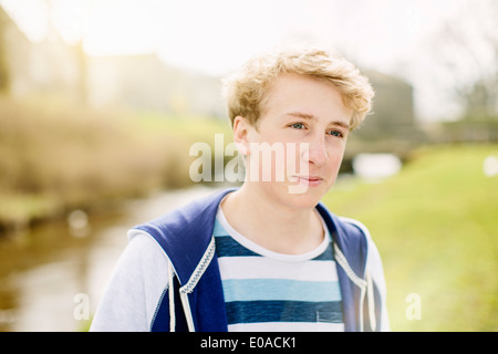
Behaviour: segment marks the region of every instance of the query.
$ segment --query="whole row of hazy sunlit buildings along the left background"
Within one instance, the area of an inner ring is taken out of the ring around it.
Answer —
[[[219,77],[166,65],[156,54],[87,56],[52,27],[30,41],[0,7],[0,91],[55,95],[94,107],[224,116]]]

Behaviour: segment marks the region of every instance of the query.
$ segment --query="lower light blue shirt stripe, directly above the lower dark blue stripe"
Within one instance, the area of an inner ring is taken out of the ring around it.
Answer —
[[[298,281],[289,279],[226,279],[225,301],[340,301],[336,281]]]

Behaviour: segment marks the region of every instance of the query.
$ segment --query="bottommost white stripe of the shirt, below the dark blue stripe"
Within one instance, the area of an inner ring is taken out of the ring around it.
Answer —
[[[266,322],[229,324],[228,332],[344,332],[343,323]]]

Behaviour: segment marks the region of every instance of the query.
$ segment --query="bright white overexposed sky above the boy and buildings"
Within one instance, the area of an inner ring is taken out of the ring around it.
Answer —
[[[31,40],[45,37],[51,19],[68,42],[82,40],[90,55],[155,52],[172,65],[224,75],[256,52],[305,41],[336,50],[362,69],[406,77],[407,66],[430,55],[424,43],[442,24],[479,1],[484,0],[0,0],[0,4]],[[424,92],[426,98],[422,95],[419,101],[434,97],[429,90]],[[430,111],[423,105],[421,110]]]

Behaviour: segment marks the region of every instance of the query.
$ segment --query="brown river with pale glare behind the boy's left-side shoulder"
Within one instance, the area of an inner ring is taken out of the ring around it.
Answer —
[[[214,191],[195,187],[157,194],[76,222],[77,229],[58,222],[0,239],[0,331],[87,329],[86,315],[94,313],[126,247],[126,231]]]

